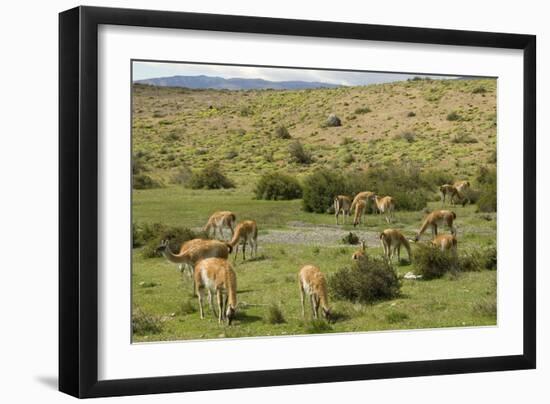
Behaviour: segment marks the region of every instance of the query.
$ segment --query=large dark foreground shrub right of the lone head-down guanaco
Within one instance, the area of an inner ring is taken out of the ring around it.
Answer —
[[[391,265],[371,259],[339,269],[329,277],[329,287],[337,299],[372,303],[398,296],[401,285]]]

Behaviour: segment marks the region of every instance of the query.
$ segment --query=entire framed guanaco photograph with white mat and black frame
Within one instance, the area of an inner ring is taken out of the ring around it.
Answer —
[[[535,37],[60,14],[59,388],[535,367]]]

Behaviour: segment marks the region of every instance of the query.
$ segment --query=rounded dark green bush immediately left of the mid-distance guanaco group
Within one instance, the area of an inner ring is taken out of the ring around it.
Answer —
[[[344,193],[343,177],[331,170],[320,169],[303,182],[303,207],[306,212],[324,213],[336,195]]]

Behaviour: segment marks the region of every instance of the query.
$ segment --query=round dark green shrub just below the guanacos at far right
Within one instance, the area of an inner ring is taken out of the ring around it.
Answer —
[[[458,264],[450,251],[443,252],[431,244],[420,243],[414,251],[416,271],[423,279],[442,277],[449,271],[458,270]]]

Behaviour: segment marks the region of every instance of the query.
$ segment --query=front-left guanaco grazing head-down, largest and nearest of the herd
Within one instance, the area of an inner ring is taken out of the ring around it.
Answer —
[[[195,265],[195,293],[199,299],[201,319],[204,318],[202,299],[205,289],[208,291],[210,308],[214,316],[218,317],[218,322],[227,318],[231,325],[237,309],[237,275],[226,259],[205,258]],[[214,293],[218,303],[217,315],[212,302]]]

